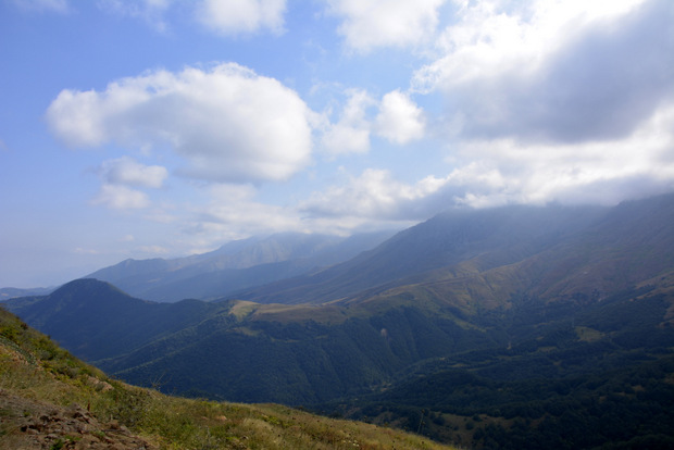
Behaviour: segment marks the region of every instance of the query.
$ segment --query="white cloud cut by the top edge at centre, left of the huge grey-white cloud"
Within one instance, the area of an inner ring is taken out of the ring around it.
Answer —
[[[339,33],[351,49],[410,48],[429,38],[446,0],[328,0],[330,12],[344,17]]]

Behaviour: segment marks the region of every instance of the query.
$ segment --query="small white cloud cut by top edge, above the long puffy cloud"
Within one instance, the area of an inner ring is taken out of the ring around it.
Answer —
[[[239,35],[284,27],[285,0],[203,0],[197,7],[199,22],[221,35]]]

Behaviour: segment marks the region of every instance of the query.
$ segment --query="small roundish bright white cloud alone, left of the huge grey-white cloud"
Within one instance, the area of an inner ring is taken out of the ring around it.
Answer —
[[[421,139],[425,132],[423,111],[408,95],[399,90],[388,92],[382,99],[376,130],[379,136],[398,145]]]

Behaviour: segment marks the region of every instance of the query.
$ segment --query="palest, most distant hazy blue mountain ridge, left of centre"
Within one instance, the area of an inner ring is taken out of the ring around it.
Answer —
[[[244,288],[346,261],[392,234],[379,232],[344,238],[285,233],[253,237],[186,258],[126,260],[86,278],[112,283],[133,296],[155,301],[226,297]]]

